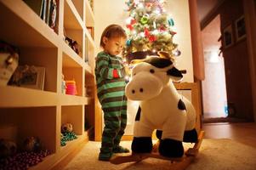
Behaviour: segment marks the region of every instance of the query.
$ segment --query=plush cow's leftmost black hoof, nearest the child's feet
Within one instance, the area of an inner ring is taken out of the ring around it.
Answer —
[[[151,137],[134,137],[132,150],[135,153],[151,153],[153,148]]]

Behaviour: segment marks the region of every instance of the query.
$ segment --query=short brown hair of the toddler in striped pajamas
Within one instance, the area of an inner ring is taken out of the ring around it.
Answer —
[[[127,35],[125,31],[122,29],[122,26],[112,24],[110,26],[107,26],[105,30],[102,32],[102,35],[100,37],[100,47],[105,47],[105,44],[103,42],[103,37],[124,37],[127,38]]]

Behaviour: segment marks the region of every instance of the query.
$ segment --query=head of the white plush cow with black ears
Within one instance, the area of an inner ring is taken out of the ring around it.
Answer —
[[[151,56],[134,66],[125,92],[131,100],[152,99],[168,86],[170,79],[180,81],[182,78],[171,59]]]

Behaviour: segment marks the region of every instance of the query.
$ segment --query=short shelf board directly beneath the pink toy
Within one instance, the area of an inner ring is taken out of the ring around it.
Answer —
[[[60,105],[88,105],[89,99],[87,97],[61,94]]]

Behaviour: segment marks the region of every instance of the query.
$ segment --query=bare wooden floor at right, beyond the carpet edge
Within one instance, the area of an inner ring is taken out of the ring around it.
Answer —
[[[256,148],[255,122],[203,123],[205,139],[234,139]]]

